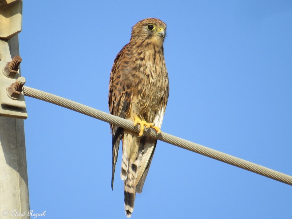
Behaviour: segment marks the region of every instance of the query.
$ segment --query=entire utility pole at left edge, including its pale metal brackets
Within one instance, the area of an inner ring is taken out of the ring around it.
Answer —
[[[20,70],[15,76],[7,76],[3,69],[19,55],[21,25],[22,0],[0,0],[0,218],[5,219],[30,218],[23,123],[27,117],[25,102],[23,97],[21,100],[8,97],[6,101],[4,93],[6,84],[20,76]]]

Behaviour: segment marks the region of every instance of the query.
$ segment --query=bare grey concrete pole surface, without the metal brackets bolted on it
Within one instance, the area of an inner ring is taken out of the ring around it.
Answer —
[[[8,44],[11,57],[19,55],[18,35],[8,40]],[[28,212],[23,119],[0,117],[0,218],[29,219]]]

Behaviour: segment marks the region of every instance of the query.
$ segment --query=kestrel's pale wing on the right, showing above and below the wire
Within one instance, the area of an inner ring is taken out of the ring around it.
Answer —
[[[157,127],[161,128],[162,120],[164,117],[165,106],[161,107],[161,109],[157,112],[154,117],[154,123]],[[148,136],[144,136],[140,140],[140,163],[138,168],[138,177],[136,179],[136,192],[141,193],[143,185],[145,183],[145,179],[147,173],[149,171],[149,167],[152,161],[152,157],[154,154],[154,150],[157,144],[157,140],[150,138]]]

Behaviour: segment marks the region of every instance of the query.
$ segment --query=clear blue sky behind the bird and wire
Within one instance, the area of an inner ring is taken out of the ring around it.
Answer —
[[[113,60],[154,17],[170,95],[162,130],[292,175],[291,1],[24,1],[26,85],[108,112]],[[126,218],[105,122],[26,97],[30,208]],[[291,218],[292,187],[164,142],[132,218]]]

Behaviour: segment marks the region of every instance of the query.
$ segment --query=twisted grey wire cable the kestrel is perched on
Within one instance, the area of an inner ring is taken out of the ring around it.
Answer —
[[[98,109],[94,109],[88,107],[86,105],[74,102],[72,100],[68,100],[66,98],[62,98],[51,93],[47,93],[44,91],[39,91],[34,88],[30,88],[27,86],[23,87],[24,95],[32,98],[36,98],[39,100],[44,100],[46,102],[53,103],[55,105],[59,105],[61,107],[65,107],[67,109],[74,110],[76,112],[85,114],[87,116],[93,117],[95,119],[99,119],[122,128],[126,128],[131,131],[135,131],[137,133],[140,132],[140,126],[137,125],[136,127],[133,126],[133,122],[128,121],[126,119],[122,119],[120,117],[108,114],[106,112],[102,112]],[[257,173],[263,175],[265,177],[277,180],[282,183],[286,183],[288,185],[292,185],[292,176],[286,175],[284,173],[280,173],[278,171],[266,168],[264,166],[260,166],[258,164],[254,164],[252,162],[231,156],[229,154],[225,154],[223,152],[213,150],[211,148],[205,147],[203,145],[199,145],[194,142],[190,142],[184,140],[182,138],[178,138],[173,135],[169,135],[167,133],[162,132],[160,135],[156,136],[156,131],[152,128],[149,128],[147,131],[144,132],[145,135],[150,136],[152,138],[167,142],[169,144],[187,149],[192,152],[196,152],[198,154],[202,154],[206,157],[210,157],[216,159],[218,161],[222,161],[226,164],[231,164],[233,166],[237,166],[239,168],[251,171],[253,173]]]

